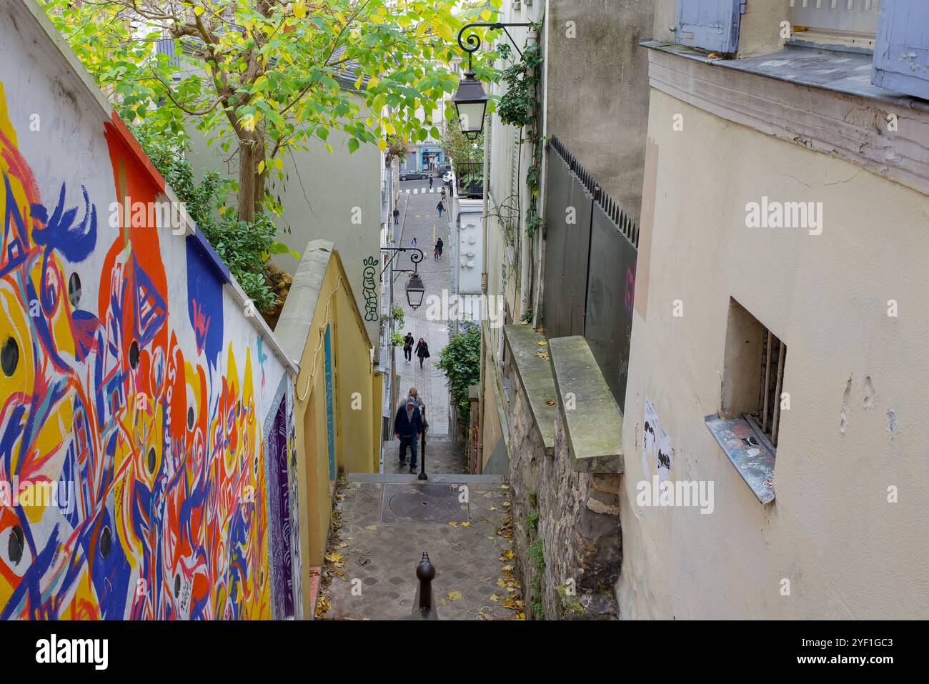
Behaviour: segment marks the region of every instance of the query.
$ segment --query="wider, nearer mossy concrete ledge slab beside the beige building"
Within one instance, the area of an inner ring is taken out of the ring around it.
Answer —
[[[548,346],[573,469],[622,473],[622,411],[587,340],[556,337]]]

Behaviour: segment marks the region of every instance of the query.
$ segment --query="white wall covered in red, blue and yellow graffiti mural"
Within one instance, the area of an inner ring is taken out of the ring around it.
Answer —
[[[0,617],[270,618],[264,426],[293,434],[288,369],[200,239],[113,212],[164,181],[20,11],[0,27]]]

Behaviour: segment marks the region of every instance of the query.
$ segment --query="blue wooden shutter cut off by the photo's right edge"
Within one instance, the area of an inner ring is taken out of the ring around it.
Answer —
[[[881,3],[871,83],[929,99],[929,2]]]

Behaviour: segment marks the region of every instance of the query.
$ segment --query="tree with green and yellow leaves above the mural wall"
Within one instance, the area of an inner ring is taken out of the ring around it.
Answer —
[[[184,138],[192,123],[238,156],[238,217],[275,209],[268,174],[332,131],[362,143],[439,138],[416,117],[457,85],[456,34],[499,0],[45,0],[127,123]],[[485,35],[485,40],[488,38]],[[490,43],[487,43],[490,45]],[[486,58],[486,59],[482,59]],[[494,77],[492,53],[476,55]],[[450,108],[451,109],[451,108]],[[448,112],[451,113],[451,112]],[[269,205],[270,204],[270,205]]]

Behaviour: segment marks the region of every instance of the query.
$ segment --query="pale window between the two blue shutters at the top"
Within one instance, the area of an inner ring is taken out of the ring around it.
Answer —
[[[874,52],[881,0],[791,0],[790,45]]]

